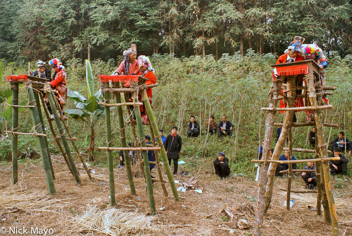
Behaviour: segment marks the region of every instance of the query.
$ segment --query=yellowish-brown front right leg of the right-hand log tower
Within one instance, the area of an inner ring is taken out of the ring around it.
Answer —
[[[307,80],[308,80],[308,90],[314,88],[314,76],[311,74],[307,75]],[[317,78],[317,80],[320,80],[320,78]],[[315,93],[309,94],[309,101],[310,104],[321,104],[321,100],[316,101],[315,98]],[[327,147],[326,147],[326,139],[325,139],[325,132],[324,132],[324,126],[323,126],[323,118],[322,118],[322,113],[321,110],[315,110],[314,112],[314,120],[316,123],[316,133],[318,135],[318,144],[320,147],[320,156],[321,157],[327,157]],[[322,162],[322,169],[323,169],[323,174],[324,174],[324,183],[325,183],[325,191],[326,191],[326,197],[328,200],[329,204],[329,210],[330,210],[330,217],[331,217],[331,228],[334,236],[340,235],[339,233],[339,224],[337,222],[337,212],[335,208],[335,200],[333,193],[331,191],[331,178],[330,178],[330,168],[328,162],[324,161]]]

